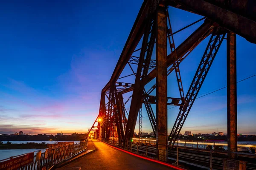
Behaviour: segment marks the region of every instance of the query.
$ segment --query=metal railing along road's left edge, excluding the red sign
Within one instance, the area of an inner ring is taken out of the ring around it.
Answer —
[[[32,161],[23,166],[19,166],[16,170],[49,170],[55,164],[58,164],[61,161],[65,161],[66,159],[73,158],[77,156],[81,152],[87,149],[88,138],[84,142],[76,143],[76,144],[63,144],[57,147],[50,147],[44,150],[38,150],[31,153],[26,153],[18,156],[12,156],[7,159],[0,160],[0,164],[4,164],[5,162],[12,161],[12,159],[22,158],[23,156],[34,154]],[[10,168],[11,170],[12,168]]]

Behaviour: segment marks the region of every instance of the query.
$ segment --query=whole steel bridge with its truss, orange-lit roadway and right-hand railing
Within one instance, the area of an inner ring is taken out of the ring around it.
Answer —
[[[174,32],[169,6],[199,14],[202,18]],[[204,21],[201,26],[180,45],[175,45],[175,34],[200,21]],[[55,148],[59,152],[56,158],[62,156],[62,159],[87,149],[86,154],[81,153],[79,158],[74,157],[59,168],[256,169],[255,154],[238,152],[236,50],[239,47],[236,34],[249,43],[256,43],[255,0],[144,0],[111,79],[102,89],[99,115],[87,136],[91,138],[94,132],[96,139],[85,139],[86,146],[79,144],[77,149],[69,146],[73,148],[71,151],[67,146],[65,152],[69,155],[65,156],[60,148]],[[209,42],[202,51],[189,90],[184,92],[180,63],[205,39]],[[215,150],[215,146],[224,144],[214,142],[179,142],[180,131],[224,40],[227,42],[227,151]],[[154,52],[155,58],[152,57]],[[131,74],[122,75],[124,69],[130,69]],[[179,97],[167,96],[167,77],[172,72],[176,75],[173,81],[177,81]],[[148,88],[150,84],[153,85]],[[126,94],[131,95],[126,97]],[[155,111],[152,105],[156,105]],[[170,134],[167,133],[167,106],[179,107]],[[142,136],[142,107],[151,123],[153,143]],[[134,139],[137,119],[140,136]],[[59,160],[60,157],[52,162]],[[37,163],[36,166],[41,165]]]

